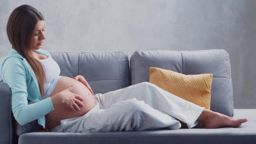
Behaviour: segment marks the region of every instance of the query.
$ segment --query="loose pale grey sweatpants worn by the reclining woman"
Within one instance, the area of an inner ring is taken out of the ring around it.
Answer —
[[[148,82],[94,96],[96,105],[93,109],[80,117],[61,120],[60,125],[49,131],[175,130],[181,128],[181,123],[176,119],[192,128],[199,123],[196,120],[205,109]]]

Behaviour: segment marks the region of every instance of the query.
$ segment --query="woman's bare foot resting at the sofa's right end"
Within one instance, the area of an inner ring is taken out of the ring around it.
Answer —
[[[219,112],[211,111],[209,116],[205,118],[205,122],[203,123],[203,125],[205,128],[237,128],[245,122],[247,122],[246,118],[235,119],[227,115],[223,115]]]

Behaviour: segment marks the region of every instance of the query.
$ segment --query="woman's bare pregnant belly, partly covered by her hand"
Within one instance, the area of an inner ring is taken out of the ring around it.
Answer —
[[[54,110],[45,115],[45,125],[48,130],[59,125],[61,120],[85,115],[96,104],[96,99],[93,94],[83,83],[65,76],[60,77],[50,97],[66,88],[70,88],[71,85],[74,86],[72,92],[83,97],[84,100],[82,103],[84,104],[84,107],[80,107],[81,110],[74,112],[71,109],[64,107],[64,105],[56,105]]]

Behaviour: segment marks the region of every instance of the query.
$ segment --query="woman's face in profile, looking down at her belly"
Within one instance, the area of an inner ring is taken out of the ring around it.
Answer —
[[[44,34],[44,21],[38,21],[37,24],[35,25],[35,29],[32,35],[32,40],[30,42],[30,50],[37,50],[41,48],[43,45],[43,40],[45,39],[45,34]]]

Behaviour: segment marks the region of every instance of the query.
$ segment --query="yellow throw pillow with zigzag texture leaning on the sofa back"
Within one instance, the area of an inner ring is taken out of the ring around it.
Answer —
[[[149,68],[149,83],[200,107],[210,109],[213,74],[184,75],[157,67]]]

